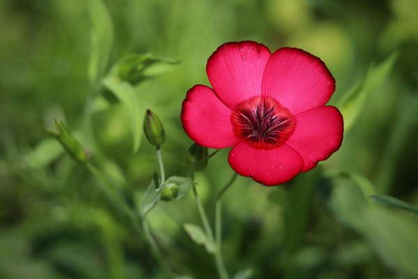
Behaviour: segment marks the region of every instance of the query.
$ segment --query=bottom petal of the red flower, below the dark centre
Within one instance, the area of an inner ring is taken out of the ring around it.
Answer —
[[[231,149],[228,161],[238,174],[251,176],[266,186],[276,186],[293,179],[303,167],[302,157],[287,144],[265,150],[241,142]]]

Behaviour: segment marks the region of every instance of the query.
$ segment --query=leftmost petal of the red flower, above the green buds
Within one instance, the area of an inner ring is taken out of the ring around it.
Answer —
[[[187,91],[180,118],[192,140],[201,146],[219,149],[239,141],[233,133],[231,114],[211,88],[195,85]]]

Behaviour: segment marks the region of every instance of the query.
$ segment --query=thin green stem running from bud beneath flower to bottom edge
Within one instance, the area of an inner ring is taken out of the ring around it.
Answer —
[[[210,224],[208,221],[208,216],[206,216],[201,199],[199,198],[199,195],[197,195],[196,184],[194,183],[193,167],[190,168],[190,179],[192,179],[194,199],[196,200],[197,208],[199,209],[199,213],[203,222],[203,226],[205,227],[206,234],[208,235],[210,243],[215,243],[215,239],[212,233],[212,228],[210,227]],[[219,248],[220,246],[217,246],[217,248],[215,248],[215,251],[213,252],[213,256],[215,257],[216,268],[219,273],[219,278],[229,279],[228,273],[226,272],[226,269],[225,269],[224,259],[222,258],[221,250]]]

